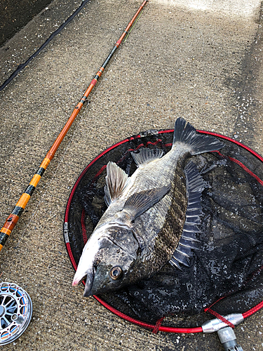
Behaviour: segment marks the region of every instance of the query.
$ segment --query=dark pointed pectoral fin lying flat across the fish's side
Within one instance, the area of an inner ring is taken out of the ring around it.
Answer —
[[[123,206],[123,210],[130,213],[131,220],[135,220],[142,213],[157,204],[170,190],[170,185],[159,189],[144,190],[131,195]]]

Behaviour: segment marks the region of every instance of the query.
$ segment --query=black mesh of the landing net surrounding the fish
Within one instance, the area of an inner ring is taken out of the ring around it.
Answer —
[[[191,157],[206,186],[198,250],[190,266],[181,271],[167,264],[151,279],[99,296],[131,318],[156,324],[165,316],[189,318],[212,305],[222,315],[243,313],[262,300],[262,158],[234,140],[217,138],[224,143],[220,152]],[[102,152],[81,173],[65,216],[65,241],[74,265],[107,208],[103,197],[108,161],[130,176],[136,169],[131,152],[140,147],[168,152],[172,141],[173,131],[141,133]]]

